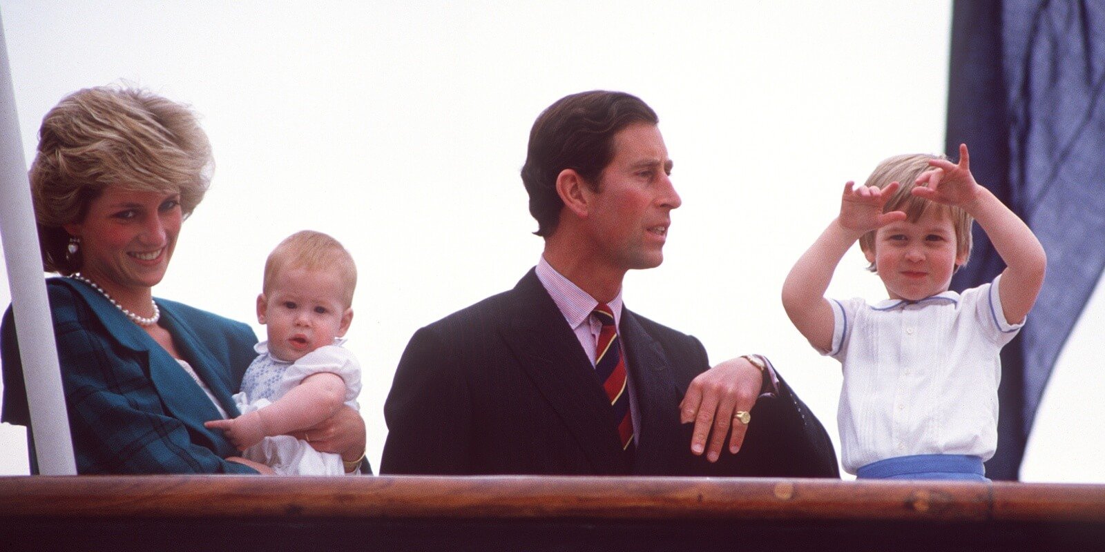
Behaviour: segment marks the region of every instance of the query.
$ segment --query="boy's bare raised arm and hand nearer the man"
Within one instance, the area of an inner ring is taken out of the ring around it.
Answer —
[[[840,216],[829,224],[813,245],[798,259],[782,284],[782,306],[798,331],[823,351],[832,349],[833,314],[825,290],[833,272],[849,247],[864,233],[905,219],[905,213],[883,213],[886,200],[898,188],[894,182],[885,190],[844,184]]]

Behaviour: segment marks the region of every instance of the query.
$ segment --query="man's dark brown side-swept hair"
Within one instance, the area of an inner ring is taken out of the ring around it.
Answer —
[[[537,232],[552,235],[564,201],[556,191],[560,171],[572,169],[596,188],[613,158],[614,135],[623,128],[660,118],[641,98],[624,92],[591,91],[558,99],[541,112],[529,130],[529,149],[522,182],[529,193],[529,213]]]

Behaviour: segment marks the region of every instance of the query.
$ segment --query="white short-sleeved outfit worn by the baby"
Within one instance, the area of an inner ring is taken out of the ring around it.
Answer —
[[[263,408],[284,396],[305,378],[320,372],[330,372],[345,380],[345,404],[358,410],[357,395],[360,394],[360,364],[352,353],[340,347],[344,339],[335,339],[332,346],[324,346],[308,352],[295,362],[285,362],[269,352],[269,342],[254,347],[257,358],[242,378],[242,391],[234,395],[234,403],[242,414]],[[277,475],[340,476],[345,474],[341,456],[319,453],[306,440],[291,435],[275,435],[261,439],[248,448],[242,456],[264,464]]]

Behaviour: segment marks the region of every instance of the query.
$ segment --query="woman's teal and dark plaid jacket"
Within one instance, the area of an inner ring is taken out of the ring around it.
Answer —
[[[80,474],[255,474],[223,460],[239,453],[207,394],[149,335],[102,295],[70,278],[46,283],[70,429]],[[231,399],[256,355],[249,326],[157,299],[161,326],[231,415]],[[28,425],[11,309],[3,318],[3,421]]]

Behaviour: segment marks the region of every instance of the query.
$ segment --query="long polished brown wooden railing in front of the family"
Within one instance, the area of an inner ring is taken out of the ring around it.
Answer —
[[[0,478],[0,550],[1105,550],[1105,486]]]

